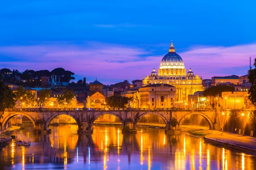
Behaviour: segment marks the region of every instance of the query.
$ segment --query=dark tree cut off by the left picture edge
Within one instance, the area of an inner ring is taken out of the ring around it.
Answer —
[[[0,118],[2,117],[5,109],[13,108],[15,106],[15,94],[12,90],[5,85],[3,77],[0,74]]]

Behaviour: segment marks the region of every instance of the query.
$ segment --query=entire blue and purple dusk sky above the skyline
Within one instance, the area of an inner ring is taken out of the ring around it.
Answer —
[[[0,68],[63,67],[76,80],[142,79],[173,40],[204,79],[247,74],[256,58],[254,1],[1,2]]]

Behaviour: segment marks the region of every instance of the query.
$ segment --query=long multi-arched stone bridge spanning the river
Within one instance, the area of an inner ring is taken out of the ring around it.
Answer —
[[[221,123],[218,117],[221,114],[219,109],[212,108],[17,108],[6,110],[3,118],[0,119],[1,129],[6,130],[8,122],[13,116],[23,115],[28,117],[33,125],[35,132],[47,132],[50,122],[59,115],[69,115],[76,120],[78,133],[92,133],[93,122],[104,114],[116,116],[122,122],[123,133],[136,132],[137,122],[145,115],[154,114],[163,119],[166,123],[166,132],[178,132],[182,120],[186,116],[201,115],[209,123],[210,129],[220,129]],[[177,119],[176,127],[171,126],[171,120]]]

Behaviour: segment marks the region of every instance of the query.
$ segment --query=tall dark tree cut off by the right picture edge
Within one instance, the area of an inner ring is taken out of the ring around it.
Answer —
[[[249,89],[249,99],[254,106],[256,106],[256,59],[254,59],[254,69],[250,70],[248,79],[251,83],[251,87]]]

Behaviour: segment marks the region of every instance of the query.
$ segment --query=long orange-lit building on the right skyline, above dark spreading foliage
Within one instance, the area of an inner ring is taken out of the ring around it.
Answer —
[[[235,85],[239,84],[239,76],[232,75],[232,76],[224,76],[224,77],[212,77],[212,86],[219,85],[221,83],[233,83]]]

